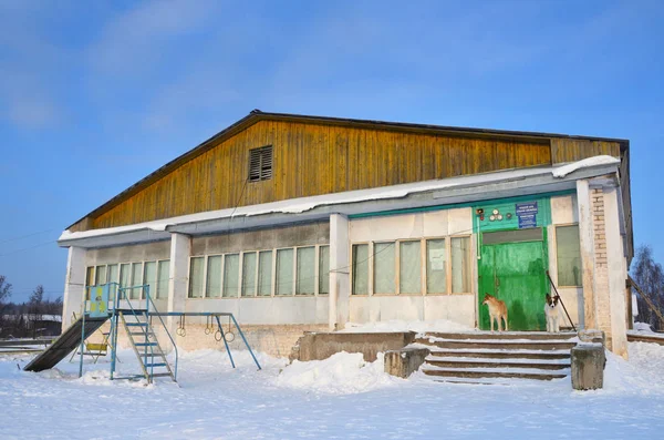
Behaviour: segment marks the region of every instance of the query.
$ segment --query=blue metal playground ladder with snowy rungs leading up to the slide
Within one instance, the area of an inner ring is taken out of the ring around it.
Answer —
[[[152,383],[158,377],[170,377],[174,382],[177,382],[166,354],[154,332],[154,326],[151,325],[148,310],[129,306],[127,309],[118,309],[117,315],[147,382]]]

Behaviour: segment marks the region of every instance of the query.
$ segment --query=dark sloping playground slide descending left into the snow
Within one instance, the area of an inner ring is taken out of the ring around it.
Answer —
[[[76,349],[81,345],[81,337],[83,340],[87,339],[93,332],[95,332],[101,326],[108,320],[110,316],[100,318],[93,318],[87,316],[85,318],[85,329],[82,329],[83,318],[76,319],[58,339],[51,344],[49,348],[42,351],[38,357],[32,359],[28,364],[23,371],[43,371],[51,369],[58,365],[62,359],[70,352]],[[83,330],[83,331],[82,331]]]

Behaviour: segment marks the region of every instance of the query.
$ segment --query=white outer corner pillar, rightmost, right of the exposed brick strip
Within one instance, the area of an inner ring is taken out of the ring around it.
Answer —
[[[616,186],[604,186],[604,227],[609,269],[609,303],[611,313],[611,350],[627,358],[627,325],[625,282],[627,263],[620,228],[620,206]]]

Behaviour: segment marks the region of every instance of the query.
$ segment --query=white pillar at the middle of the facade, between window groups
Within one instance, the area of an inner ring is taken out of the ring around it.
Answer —
[[[350,318],[351,252],[349,218],[341,214],[330,216],[330,330],[344,328]]]

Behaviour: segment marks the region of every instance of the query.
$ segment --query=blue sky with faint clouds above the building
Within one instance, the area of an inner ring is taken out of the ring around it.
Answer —
[[[0,0],[0,274],[62,295],[64,227],[252,109],[631,140],[664,262],[660,1]]]

